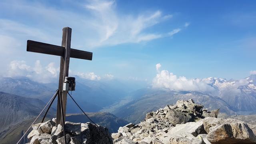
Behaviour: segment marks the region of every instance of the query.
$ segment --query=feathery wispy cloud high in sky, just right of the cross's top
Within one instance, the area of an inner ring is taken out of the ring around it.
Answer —
[[[139,43],[161,38],[162,34],[148,33],[146,29],[172,18],[172,15],[163,15],[160,10],[137,16],[118,15],[115,6],[114,1],[93,1],[85,5],[94,16],[92,26],[97,30],[99,39],[90,39],[91,46]]]

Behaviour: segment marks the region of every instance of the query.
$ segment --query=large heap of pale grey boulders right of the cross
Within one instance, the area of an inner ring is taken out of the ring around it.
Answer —
[[[114,144],[256,144],[256,126],[217,118],[193,100],[178,100],[149,112],[139,124],[127,124],[113,133]]]

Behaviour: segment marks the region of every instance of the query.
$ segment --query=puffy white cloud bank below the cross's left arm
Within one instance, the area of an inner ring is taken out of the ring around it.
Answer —
[[[36,61],[34,67],[28,66],[25,61],[14,60],[10,62],[6,76],[25,76],[36,82],[49,83],[52,82],[52,80],[56,80],[58,68],[54,66],[54,63],[43,67],[39,60]]]

